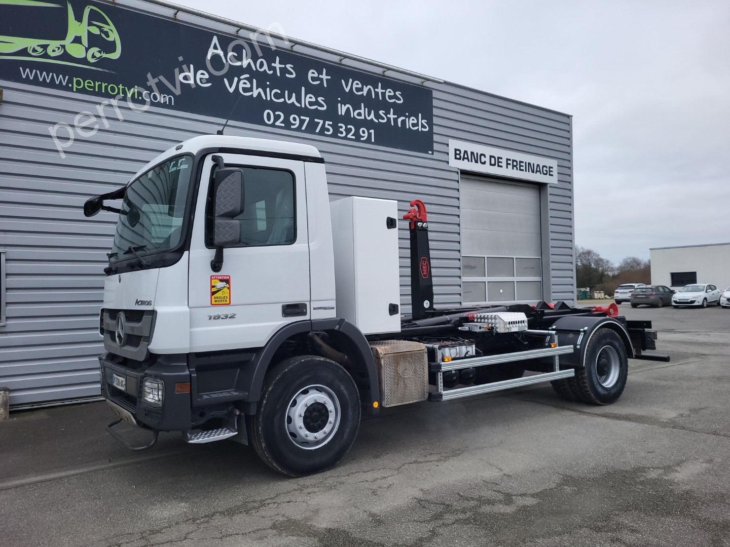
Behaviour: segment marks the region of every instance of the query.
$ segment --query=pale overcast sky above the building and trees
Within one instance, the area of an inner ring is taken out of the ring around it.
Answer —
[[[576,243],[730,241],[730,1],[178,0],[573,115]]]

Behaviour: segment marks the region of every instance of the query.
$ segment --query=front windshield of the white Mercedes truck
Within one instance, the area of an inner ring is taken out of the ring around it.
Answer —
[[[193,158],[178,156],[150,169],[127,187],[114,235],[114,260],[174,249],[183,217]]]

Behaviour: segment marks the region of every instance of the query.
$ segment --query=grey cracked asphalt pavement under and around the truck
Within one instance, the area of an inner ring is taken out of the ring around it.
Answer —
[[[104,403],[0,422],[0,545],[730,545],[730,310],[631,309],[658,352],[611,406],[547,387],[385,411],[334,470],[161,435],[130,454]]]

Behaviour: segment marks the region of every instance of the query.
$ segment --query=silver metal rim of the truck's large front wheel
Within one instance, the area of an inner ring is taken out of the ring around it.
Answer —
[[[337,395],[328,387],[312,385],[292,397],[286,413],[286,429],[299,448],[318,449],[328,443],[339,427],[341,412]]]

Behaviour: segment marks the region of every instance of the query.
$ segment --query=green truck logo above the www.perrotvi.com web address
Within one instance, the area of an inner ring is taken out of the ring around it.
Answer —
[[[0,0],[3,5],[23,6],[41,9],[37,16],[47,18],[49,9],[63,8],[64,4],[53,4],[41,0]],[[96,6],[86,6],[80,21],[76,20],[74,10],[66,2],[67,16],[65,20],[58,18],[58,27],[48,31],[51,36],[30,38],[27,36],[0,36],[0,59],[19,59],[46,61],[71,66],[87,64],[64,61],[64,56],[80,59],[87,63],[96,63],[99,59],[117,59],[122,53],[122,44],[114,23]],[[60,39],[54,39],[53,35]],[[15,55],[12,55],[14,54]],[[101,69],[97,69],[101,70]]]

